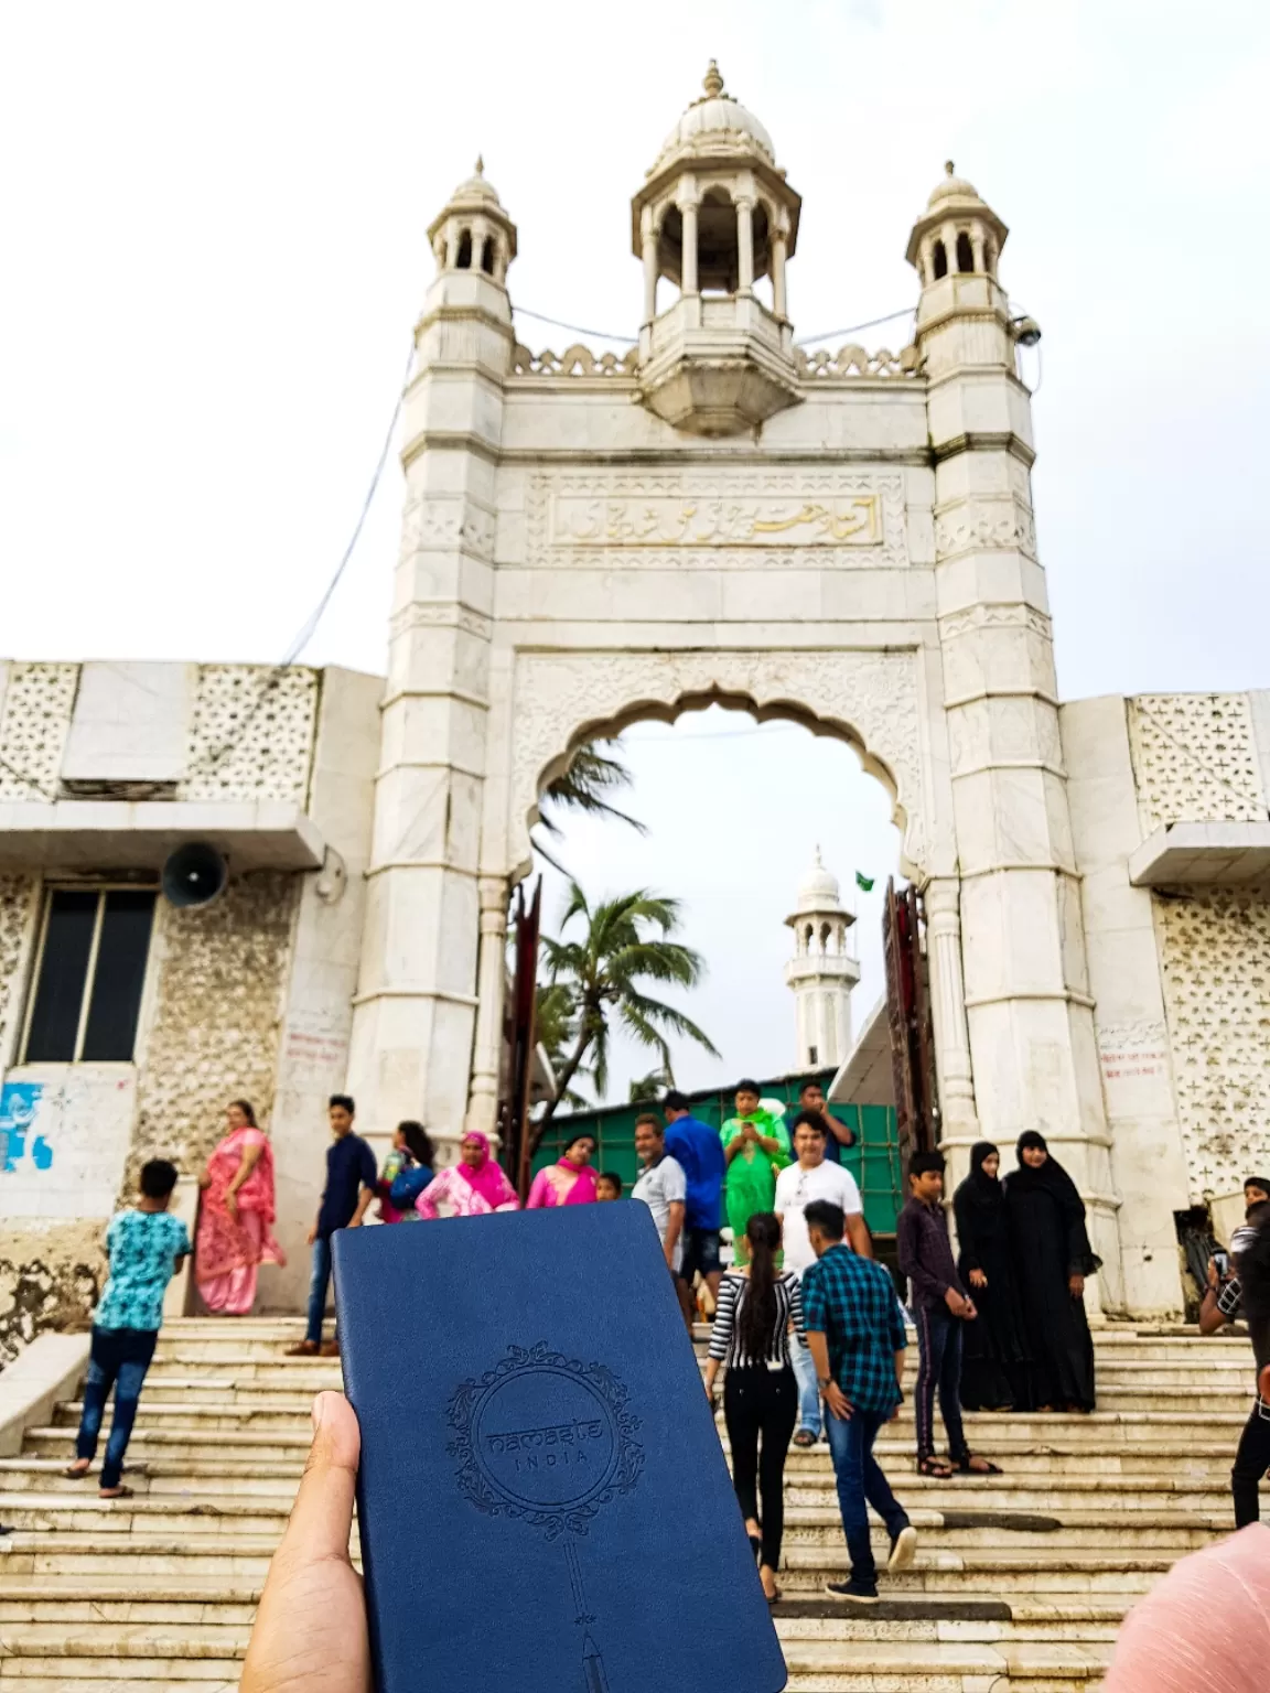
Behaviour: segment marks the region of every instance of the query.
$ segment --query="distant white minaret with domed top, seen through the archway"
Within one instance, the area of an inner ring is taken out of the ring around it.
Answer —
[[[786,923],[794,931],[794,957],[786,982],[798,1007],[798,1068],[840,1065],[852,1048],[852,989],[860,960],[850,929],[855,913],[838,894],[838,879],[820,862],[820,846]]]

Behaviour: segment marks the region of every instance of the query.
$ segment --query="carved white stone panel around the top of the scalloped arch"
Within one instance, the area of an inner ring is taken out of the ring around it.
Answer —
[[[513,840],[527,828],[549,765],[640,708],[730,698],[833,725],[886,775],[908,819],[904,855],[925,858],[918,670],[911,652],[588,652],[516,657]],[[515,850],[515,848],[513,848]]]

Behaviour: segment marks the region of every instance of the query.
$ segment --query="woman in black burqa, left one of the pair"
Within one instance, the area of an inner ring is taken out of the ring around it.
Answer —
[[[953,1194],[957,1273],[979,1315],[965,1324],[962,1405],[967,1410],[1035,1407],[1028,1341],[1019,1307],[1009,1207],[997,1172],[1001,1153],[991,1141],[970,1150],[970,1175]]]

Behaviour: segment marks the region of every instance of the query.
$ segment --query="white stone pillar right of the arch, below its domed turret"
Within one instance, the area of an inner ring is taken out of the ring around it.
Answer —
[[[955,240],[955,230],[945,230]],[[1089,1207],[1106,1261],[1097,1297],[1121,1304],[1118,1199],[1094,1045],[1080,882],[1058,738],[1045,572],[1036,557],[1028,391],[1006,295],[955,271],[923,291],[935,455],[935,559],[962,958],[984,1136],[1013,1166],[1040,1129]],[[936,896],[936,911],[940,896]],[[945,946],[952,950],[948,918]],[[943,1046],[948,1040],[950,979]]]

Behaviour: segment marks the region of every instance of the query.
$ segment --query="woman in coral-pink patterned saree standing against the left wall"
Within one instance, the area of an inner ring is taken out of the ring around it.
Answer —
[[[198,1178],[203,1204],[195,1239],[195,1282],[218,1317],[246,1317],[256,1302],[256,1271],[286,1258],[273,1238],[273,1148],[246,1099],[225,1112],[229,1133]]]

